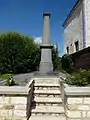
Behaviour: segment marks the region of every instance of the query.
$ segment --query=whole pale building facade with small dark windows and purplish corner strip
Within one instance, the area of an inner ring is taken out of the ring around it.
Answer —
[[[63,23],[64,54],[90,46],[90,0],[78,0]]]

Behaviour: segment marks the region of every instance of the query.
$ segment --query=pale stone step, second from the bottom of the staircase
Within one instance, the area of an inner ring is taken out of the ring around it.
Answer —
[[[42,115],[61,115],[65,114],[63,106],[36,106],[32,108],[31,114],[42,114]]]

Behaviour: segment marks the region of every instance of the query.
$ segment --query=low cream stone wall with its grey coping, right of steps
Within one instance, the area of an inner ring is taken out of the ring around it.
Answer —
[[[90,87],[60,84],[66,120],[90,120]]]

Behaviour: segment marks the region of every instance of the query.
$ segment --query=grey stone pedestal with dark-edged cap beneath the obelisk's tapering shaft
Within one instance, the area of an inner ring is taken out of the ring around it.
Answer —
[[[42,44],[41,46],[41,62],[40,73],[51,73],[53,71],[52,64],[52,45]]]

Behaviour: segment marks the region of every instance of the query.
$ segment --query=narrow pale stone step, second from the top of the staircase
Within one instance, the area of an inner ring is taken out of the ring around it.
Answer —
[[[34,94],[60,95],[60,90],[34,90]]]

